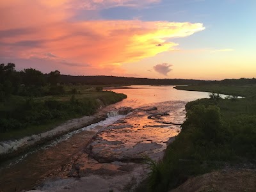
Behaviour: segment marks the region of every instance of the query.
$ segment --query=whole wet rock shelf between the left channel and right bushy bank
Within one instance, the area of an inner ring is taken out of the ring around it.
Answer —
[[[131,191],[147,177],[148,156],[156,161],[163,158],[168,143],[175,140],[180,127],[161,122],[179,123],[184,120],[184,103],[173,104],[170,114],[180,117],[159,116],[148,119],[152,113],[162,113],[164,106],[157,110],[141,108],[100,129],[77,154],[74,161],[65,164],[37,189],[42,191]]]

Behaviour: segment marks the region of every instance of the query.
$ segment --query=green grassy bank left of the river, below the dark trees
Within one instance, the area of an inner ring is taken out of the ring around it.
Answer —
[[[72,118],[92,115],[100,105],[113,104],[126,98],[126,95],[120,93],[97,91],[93,86],[63,87],[63,94],[59,95],[12,95],[8,100],[1,102],[0,141],[49,131]]]

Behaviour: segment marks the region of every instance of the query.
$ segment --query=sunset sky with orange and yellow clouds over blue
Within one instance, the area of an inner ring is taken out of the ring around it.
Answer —
[[[1,0],[0,63],[74,76],[256,77],[255,0]]]

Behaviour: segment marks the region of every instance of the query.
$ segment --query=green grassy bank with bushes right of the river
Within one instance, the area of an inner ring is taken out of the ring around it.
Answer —
[[[200,99],[186,105],[187,119],[160,163],[151,163],[150,191],[168,191],[189,177],[223,166],[256,162],[255,86],[178,86],[182,90],[246,96]],[[243,94],[241,94],[243,93]]]

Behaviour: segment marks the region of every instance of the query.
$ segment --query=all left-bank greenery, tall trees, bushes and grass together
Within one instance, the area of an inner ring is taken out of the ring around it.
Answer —
[[[59,84],[60,72],[33,68],[20,72],[13,63],[0,65],[0,140],[20,138],[84,115],[100,104],[113,104],[124,94],[102,92],[102,87]]]

